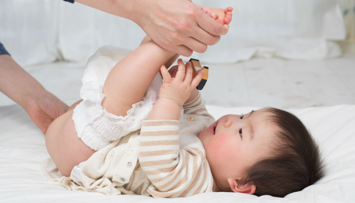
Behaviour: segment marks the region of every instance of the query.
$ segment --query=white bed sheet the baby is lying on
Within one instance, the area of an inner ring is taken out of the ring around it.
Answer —
[[[216,118],[251,107],[207,106]],[[327,174],[315,185],[284,198],[241,193],[202,193],[187,198],[105,196],[51,185],[41,172],[49,155],[44,135],[18,105],[0,106],[0,202],[355,202],[355,105],[291,109],[320,143]]]

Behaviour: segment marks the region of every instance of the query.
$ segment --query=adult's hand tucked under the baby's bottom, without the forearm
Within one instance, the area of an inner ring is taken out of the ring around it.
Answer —
[[[25,110],[37,127],[45,134],[54,119],[67,111],[68,105],[48,91],[44,95],[33,96],[33,99],[28,100]]]

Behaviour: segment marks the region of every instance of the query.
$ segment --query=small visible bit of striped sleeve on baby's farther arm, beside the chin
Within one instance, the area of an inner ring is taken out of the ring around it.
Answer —
[[[184,103],[184,105],[182,105],[182,107],[184,108],[185,114],[208,116],[208,117],[214,119],[213,116],[208,113],[205,103],[206,102],[202,99],[201,93],[199,91],[196,98],[194,98],[192,101],[190,101],[188,103]]]

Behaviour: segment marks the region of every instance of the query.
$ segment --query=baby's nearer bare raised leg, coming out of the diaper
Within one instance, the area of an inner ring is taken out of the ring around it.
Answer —
[[[142,100],[160,65],[174,56],[175,53],[153,41],[141,44],[120,60],[108,74],[103,87],[105,97],[102,107],[116,116],[126,116],[132,104]]]

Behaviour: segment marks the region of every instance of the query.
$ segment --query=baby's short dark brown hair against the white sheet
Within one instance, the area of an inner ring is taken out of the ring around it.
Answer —
[[[256,196],[284,197],[322,178],[324,166],[318,145],[300,119],[277,108],[263,110],[270,113],[267,121],[278,128],[273,132],[272,156],[247,169],[242,185],[255,185]]]

